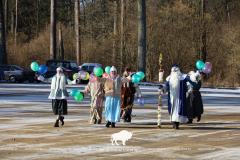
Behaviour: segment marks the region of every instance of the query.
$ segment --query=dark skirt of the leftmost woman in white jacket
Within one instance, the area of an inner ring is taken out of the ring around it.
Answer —
[[[55,115],[67,115],[67,100],[65,99],[53,99],[52,111]]]

